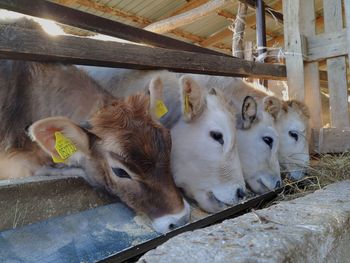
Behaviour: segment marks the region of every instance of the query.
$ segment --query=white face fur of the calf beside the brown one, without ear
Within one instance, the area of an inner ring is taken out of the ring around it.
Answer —
[[[208,109],[197,120],[180,121],[171,130],[175,183],[209,212],[237,203],[237,190],[245,190],[232,117],[220,110],[219,103],[209,95]],[[210,137],[210,131],[223,134],[223,146]]]

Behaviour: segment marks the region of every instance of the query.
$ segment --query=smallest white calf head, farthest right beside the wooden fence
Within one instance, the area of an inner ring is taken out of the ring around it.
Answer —
[[[280,136],[278,159],[282,172],[292,180],[305,175],[309,165],[307,107],[296,100],[283,102],[276,125]]]

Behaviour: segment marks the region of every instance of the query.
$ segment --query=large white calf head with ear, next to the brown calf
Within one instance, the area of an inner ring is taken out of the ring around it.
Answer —
[[[182,118],[171,129],[177,186],[208,212],[243,198],[245,183],[236,145],[235,114],[219,90],[179,80]]]

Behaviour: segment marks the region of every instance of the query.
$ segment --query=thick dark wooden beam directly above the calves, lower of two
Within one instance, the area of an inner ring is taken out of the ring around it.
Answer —
[[[34,30],[11,26],[0,26],[0,57],[222,76],[286,78],[286,69],[282,65],[73,36],[52,38]]]

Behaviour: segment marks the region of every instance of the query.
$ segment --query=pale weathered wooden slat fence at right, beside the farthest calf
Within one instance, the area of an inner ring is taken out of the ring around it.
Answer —
[[[343,28],[342,2],[347,19]],[[346,55],[350,54],[350,1],[323,0],[325,32],[315,34],[314,0],[284,0],[289,94],[310,108],[317,152],[350,150]],[[318,61],[327,60],[331,128],[322,121]],[[301,77],[304,76],[304,77]]]

